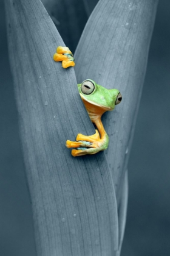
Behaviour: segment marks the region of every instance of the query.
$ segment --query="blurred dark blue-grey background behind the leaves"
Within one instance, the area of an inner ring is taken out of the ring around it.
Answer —
[[[129,204],[121,256],[170,255],[169,13],[170,2],[161,0],[128,165]],[[84,14],[81,30],[86,20]],[[35,256],[2,0],[0,33],[0,255]],[[68,43],[74,51],[75,45]]]

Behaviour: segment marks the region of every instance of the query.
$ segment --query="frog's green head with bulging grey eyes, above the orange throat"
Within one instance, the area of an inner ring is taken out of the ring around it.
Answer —
[[[78,84],[78,90],[84,104],[89,102],[103,110],[113,110],[115,105],[121,102],[122,96],[117,89],[106,89],[98,85],[94,80],[84,80],[82,84]]]

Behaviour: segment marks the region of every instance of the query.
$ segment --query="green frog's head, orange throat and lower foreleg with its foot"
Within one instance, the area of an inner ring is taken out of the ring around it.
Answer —
[[[72,149],[73,157],[96,154],[107,149],[109,136],[104,130],[101,116],[106,111],[114,110],[115,105],[119,104],[122,99],[117,89],[107,90],[91,79],[84,80],[82,84],[78,84],[78,91],[90,120],[95,124],[97,130],[95,130],[94,135],[85,136],[78,133],[76,141],[66,141],[67,148],[76,148]]]

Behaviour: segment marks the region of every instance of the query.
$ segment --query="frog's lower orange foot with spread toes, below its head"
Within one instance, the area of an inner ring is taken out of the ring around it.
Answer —
[[[77,141],[66,141],[67,148],[76,148],[72,149],[73,157],[77,157],[80,155],[87,155],[87,154],[96,154],[99,151],[103,151],[107,148],[109,140],[104,138],[103,140],[100,139],[100,135],[98,130],[96,133],[91,136],[85,136],[81,133],[77,135]]]

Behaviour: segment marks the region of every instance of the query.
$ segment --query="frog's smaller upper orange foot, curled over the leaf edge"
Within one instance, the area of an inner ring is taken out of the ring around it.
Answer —
[[[62,62],[63,68],[75,66],[73,54],[68,47],[58,46],[56,53],[53,55],[53,60],[55,62]]]

